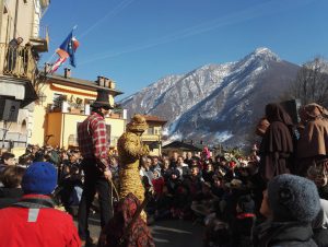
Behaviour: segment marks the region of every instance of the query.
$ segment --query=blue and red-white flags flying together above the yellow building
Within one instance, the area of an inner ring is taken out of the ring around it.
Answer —
[[[72,67],[77,66],[75,50],[78,49],[80,44],[78,39],[73,37],[73,30],[69,33],[67,38],[56,50],[56,54],[59,56],[59,59],[54,63],[52,68],[50,69],[50,73],[54,73],[68,58],[70,58],[70,64]]]

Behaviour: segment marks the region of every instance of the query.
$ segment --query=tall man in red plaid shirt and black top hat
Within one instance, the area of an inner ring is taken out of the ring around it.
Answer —
[[[108,145],[105,116],[113,107],[108,92],[98,90],[97,98],[92,104],[92,114],[78,127],[78,141],[83,156],[84,188],[79,207],[79,235],[82,246],[93,244],[90,237],[87,217],[95,193],[98,193],[101,225],[104,227],[113,216],[112,178],[108,162]]]

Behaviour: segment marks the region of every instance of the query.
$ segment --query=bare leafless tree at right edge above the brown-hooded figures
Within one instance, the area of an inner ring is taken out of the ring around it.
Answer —
[[[302,105],[317,103],[328,106],[328,62],[316,57],[302,66],[295,81],[291,83],[289,95],[300,98]]]

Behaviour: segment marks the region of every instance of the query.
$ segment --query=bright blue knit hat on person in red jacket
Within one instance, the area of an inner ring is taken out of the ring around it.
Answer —
[[[56,186],[57,170],[48,162],[34,162],[26,169],[22,180],[24,193],[50,195]]]

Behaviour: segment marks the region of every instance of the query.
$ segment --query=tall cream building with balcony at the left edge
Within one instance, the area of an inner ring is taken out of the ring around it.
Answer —
[[[49,3],[0,0],[0,138],[5,148],[24,150],[31,138],[38,54],[48,51],[49,42],[39,23]],[[21,44],[9,45],[17,37]]]

